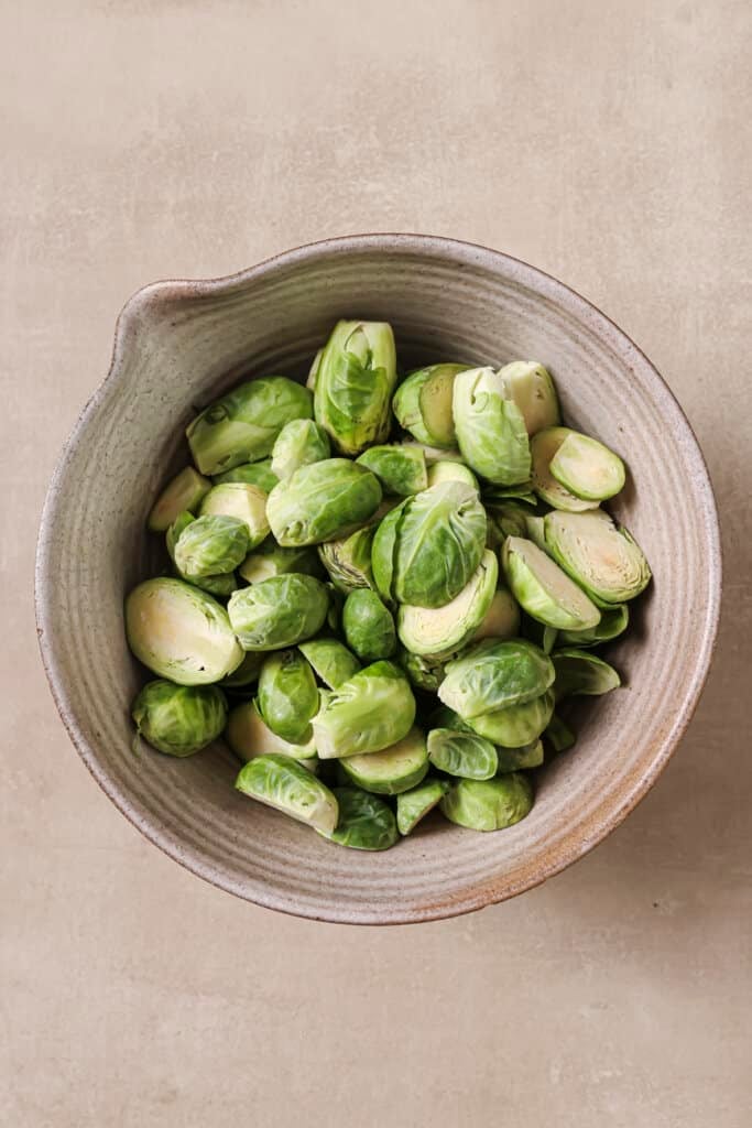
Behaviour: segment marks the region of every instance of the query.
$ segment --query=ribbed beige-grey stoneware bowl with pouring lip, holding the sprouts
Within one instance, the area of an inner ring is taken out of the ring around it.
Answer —
[[[134,755],[144,679],[123,598],[159,566],[144,530],[187,460],[185,425],[240,378],[301,377],[340,317],[388,320],[401,365],[534,358],[566,420],[625,456],[614,506],[651,562],[635,627],[611,647],[626,688],[583,705],[576,748],[546,767],[536,805],[496,834],[430,817],[383,854],[342,849],[233,790],[221,744],[188,760]],[[520,893],[582,857],[655,782],[697,704],[716,633],[718,528],[702,456],[676,400],[608,318],[524,263],[449,239],[374,235],[287,252],[227,279],[158,282],[121,314],[112,368],[55,472],[38,543],[42,656],[87,767],[151,841],[268,908],[361,924],[430,920]],[[64,765],[63,765],[64,770]]]

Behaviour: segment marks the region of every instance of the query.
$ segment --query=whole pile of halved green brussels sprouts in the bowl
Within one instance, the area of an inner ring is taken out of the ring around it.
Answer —
[[[224,733],[240,792],[357,849],[434,807],[523,819],[528,769],[574,743],[558,703],[619,686],[593,647],[651,579],[600,508],[623,464],[561,425],[546,368],[400,380],[389,325],[340,321],[307,387],[241,384],[187,440],[149,515],[170,574],[126,600],[158,678],[139,733],[172,756]]]

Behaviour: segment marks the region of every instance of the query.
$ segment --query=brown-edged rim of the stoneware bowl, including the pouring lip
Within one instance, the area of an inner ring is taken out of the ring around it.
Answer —
[[[96,748],[83,735],[73,711],[69,706],[65,689],[67,678],[59,668],[55,640],[48,631],[47,606],[51,598],[51,590],[54,588],[53,575],[50,570],[51,528],[54,522],[60,484],[64,478],[72,453],[86,431],[89,416],[97,411],[109,382],[117,378],[117,371],[124,354],[124,343],[130,335],[133,323],[139,317],[140,310],[156,296],[168,300],[209,297],[218,291],[232,290],[235,287],[244,285],[249,281],[258,281],[280,268],[295,266],[322,256],[346,256],[351,252],[359,250],[422,254],[443,261],[465,261],[474,265],[487,264],[492,270],[494,266],[498,267],[498,265],[502,265],[506,268],[506,273],[511,273],[516,281],[523,285],[530,285],[537,293],[542,293],[551,298],[566,309],[570,316],[580,321],[585,321],[626,363],[639,364],[643,371],[648,373],[656,396],[662,400],[662,406],[667,412],[667,425],[672,430],[678,430],[682,433],[687,465],[693,479],[695,490],[701,495],[704,501],[701,525],[708,549],[708,600],[705,607],[702,632],[698,640],[700,645],[695,652],[693,669],[688,680],[683,700],[680,707],[675,710],[667,731],[656,742],[655,755],[646,770],[637,777],[632,776],[629,782],[625,782],[620,791],[614,792],[603,803],[599,804],[590,823],[585,823],[583,834],[575,841],[569,836],[557,843],[541,856],[536,870],[527,871],[524,880],[519,881],[516,884],[513,883],[511,878],[499,876],[489,879],[475,890],[470,888],[463,891],[462,896],[455,896],[451,900],[444,900],[441,904],[431,902],[425,909],[398,910],[390,913],[388,917],[384,917],[383,908],[379,909],[377,907],[371,910],[359,911],[357,916],[354,916],[346,909],[338,911],[333,908],[322,913],[317,911],[315,908],[295,905],[292,900],[282,904],[273,893],[269,897],[264,897],[255,892],[251,897],[242,888],[223,880],[222,875],[216,873],[211,865],[202,862],[200,855],[184,851],[180,843],[169,831],[153,825],[149,818],[144,817],[138,809],[138,804],[131,800],[127,791],[118,787],[110,779],[108,772],[103,768]],[[264,908],[273,908],[291,916],[327,920],[329,923],[386,925],[414,924],[461,916],[466,913],[477,911],[488,905],[516,897],[529,889],[542,884],[549,878],[573,865],[616,830],[642,799],[644,799],[651,787],[653,787],[690,724],[707,680],[717,644],[722,592],[723,563],[718,513],[705,457],[695,431],[673,391],[652,361],[623,329],[611,320],[598,306],[584,298],[572,287],[513,255],[495,250],[481,244],[444,236],[413,232],[369,232],[363,235],[336,236],[301,244],[289,250],[283,250],[264,258],[253,266],[232,274],[220,275],[219,277],[162,279],[140,288],[127,299],[115,324],[112,359],[107,374],[81,408],[61,450],[50,481],[37,536],[34,602],[37,642],[42,663],[53,700],[61,721],[68,731],[68,735],[86,767],[105,794],[121,813],[125,816],[129,822],[149,841],[158,846],[165,854],[178,862],[191,873],[196,874],[210,884]]]

